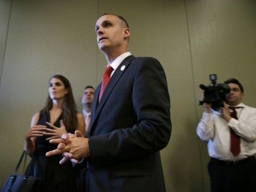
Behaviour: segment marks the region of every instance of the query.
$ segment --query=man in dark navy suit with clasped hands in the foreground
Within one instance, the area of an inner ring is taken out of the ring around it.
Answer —
[[[61,164],[86,159],[87,191],[165,191],[159,151],[169,142],[171,119],[162,65],[127,52],[130,29],[121,16],[102,15],[96,35],[113,71],[104,93],[102,84],[94,93],[87,138],[62,135],[46,155],[62,153]]]

